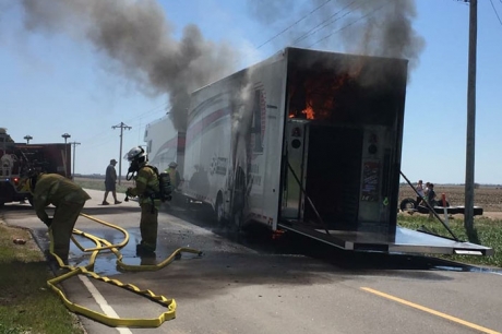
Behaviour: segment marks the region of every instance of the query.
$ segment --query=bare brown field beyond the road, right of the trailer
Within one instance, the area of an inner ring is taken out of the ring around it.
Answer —
[[[443,193],[446,195],[451,206],[465,205],[465,187],[464,186],[442,186],[434,184],[438,196]],[[399,189],[399,203],[406,198],[417,198],[415,191],[409,184],[402,184]],[[474,205],[483,210],[483,215],[488,213],[498,218],[502,218],[502,187],[479,186],[475,189]]]

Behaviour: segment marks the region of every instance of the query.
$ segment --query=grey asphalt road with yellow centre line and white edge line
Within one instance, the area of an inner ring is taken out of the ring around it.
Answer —
[[[135,254],[138,203],[103,206],[103,192],[88,192],[93,199],[84,213],[128,230],[124,263],[158,263],[180,247],[203,251],[202,257],[183,253],[155,272],[121,272],[113,254],[100,253],[94,272],[174,298],[177,312],[156,329],[115,329],[81,317],[89,334],[502,333],[500,272],[422,257],[345,253],[295,235],[272,240],[260,229],[236,234],[214,227],[206,211],[172,208],[159,215],[156,259],[141,259]],[[31,228],[40,248],[48,248],[47,230],[27,204],[5,205],[0,214],[8,224]],[[110,242],[123,239],[84,217],[75,227]],[[70,264],[87,261],[88,254],[72,247]],[[166,311],[83,275],[62,286],[72,302],[120,318],[150,319]]]

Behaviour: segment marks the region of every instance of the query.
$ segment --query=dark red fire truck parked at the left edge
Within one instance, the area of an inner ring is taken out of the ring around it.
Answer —
[[[29,169],[70,178],[70,157],[71,144],[15,143],[7,129],[0,128],[0,206],[26,200],[32,202],[29,190],[23,188]]]

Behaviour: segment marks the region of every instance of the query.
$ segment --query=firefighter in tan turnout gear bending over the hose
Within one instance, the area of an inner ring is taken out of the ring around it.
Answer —
[[[59,174],[32,172],[27,182],[35,212],[52,234],[53,253],[68,264],[73,227],[91,196],[79,184]],[[46,212],[49,204],[56,206],[52,218]]]

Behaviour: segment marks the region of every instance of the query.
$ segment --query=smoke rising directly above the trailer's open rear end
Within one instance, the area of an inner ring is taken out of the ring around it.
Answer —
[[[294,2],[294,10],[303,12],[304,16],[291,17],[287,24],[282,22],[282,26],[276,26],[277,12],[285,8],[284,1],[254,0],[248,4],[259,22],[274,32],[282,31],[280,38],[273,40],[276,45],[404,58],[409,60],[413,70],[417,68],[426,44],[413,27],[417,15],[414,0]],[[270,10],[264,11],[265,8]]]

